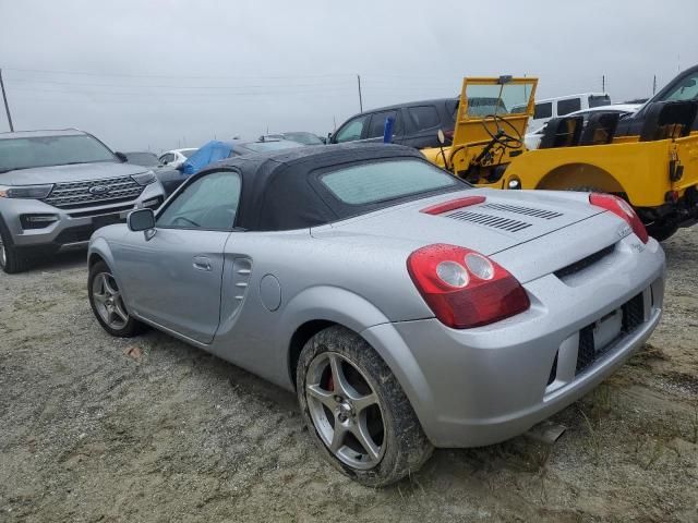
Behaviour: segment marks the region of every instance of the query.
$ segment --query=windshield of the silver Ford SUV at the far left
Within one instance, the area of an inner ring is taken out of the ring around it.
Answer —
[[[106,146],[87,135],[0,139],[0,172],[97,161],[117,159]]]

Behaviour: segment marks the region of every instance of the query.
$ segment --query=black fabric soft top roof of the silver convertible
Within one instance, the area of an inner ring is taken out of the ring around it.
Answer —
[[[313,173],[318,171],[392,158],[428,162],[417,149],[400,145],[318,145],[222,160],[203,170],[196,178],[213,171],[238,171],[242,177],[242,196],[236,227],[253,231],[282,231],[315,227],[395,205],[400,199],[414,199],[414,195],[410,195],[358,208],[327,197],[329,193],[322,194],[318,184],[313,183]],[[464,188],[458,185],[435,193]]]

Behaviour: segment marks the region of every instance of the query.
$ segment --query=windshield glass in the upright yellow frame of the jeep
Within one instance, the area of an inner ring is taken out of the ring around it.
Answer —
[[[478,84],[466,86],[469,117],[526,112],[533,86],[522,84]]]

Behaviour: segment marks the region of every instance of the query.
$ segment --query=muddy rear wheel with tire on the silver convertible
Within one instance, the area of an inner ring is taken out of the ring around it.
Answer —
[[[362,485],[417,472],[432,446],[395,375],[357,333],[329,327],[303,348],[298,402],[324,458]]]

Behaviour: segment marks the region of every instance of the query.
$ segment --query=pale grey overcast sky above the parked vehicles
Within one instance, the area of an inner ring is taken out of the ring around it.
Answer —
[[[76,126],[118,150],[326,134],[363,107],[540,78],[538,97],[648,97],[698,63],[695,0],[0,0],[16,130]],[[0,131],[8,130],[0,112]]]

